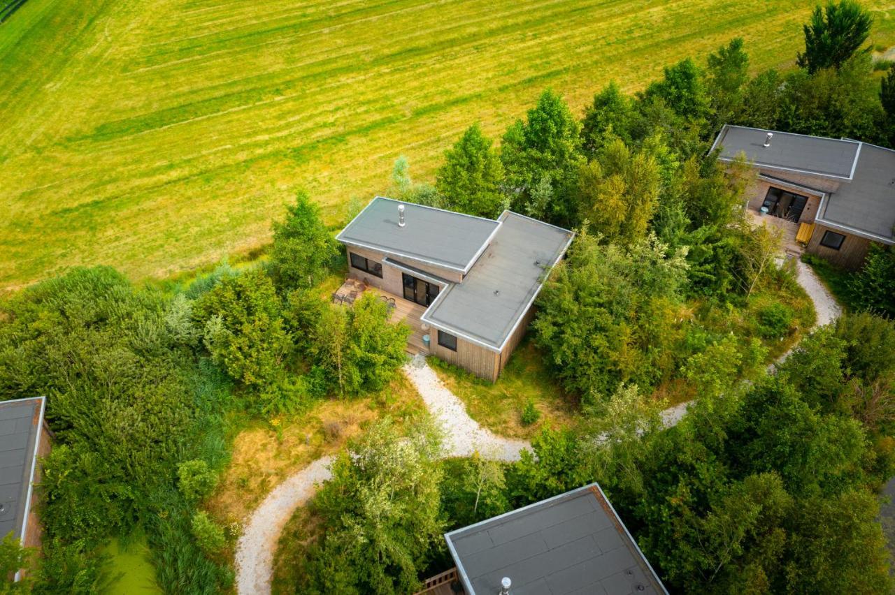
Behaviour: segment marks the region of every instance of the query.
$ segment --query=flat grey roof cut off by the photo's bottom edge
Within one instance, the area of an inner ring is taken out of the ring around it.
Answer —
[[[596,483],[449,532],[467,595],[667,593]]]

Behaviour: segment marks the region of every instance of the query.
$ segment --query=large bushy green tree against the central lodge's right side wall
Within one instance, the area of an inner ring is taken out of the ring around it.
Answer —
[[[684,257],[655,239],[625,250],[579,234],[541,290],[533,323],[563,386],[597,400],[620,382],[651,387],[669,374],[685,279]]]

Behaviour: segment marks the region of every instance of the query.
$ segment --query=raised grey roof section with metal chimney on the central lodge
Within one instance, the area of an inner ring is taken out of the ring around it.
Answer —
[[[405,205],[405,227],[398,226],[398,205]],[[498,227],[491,219],[375,197],[336,239],[467,272]]]

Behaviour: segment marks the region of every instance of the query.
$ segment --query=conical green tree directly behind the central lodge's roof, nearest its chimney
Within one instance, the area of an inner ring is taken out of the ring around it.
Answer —
[[[478,124],[447,149],[435,182],[447,208],[490,218],[504,208],[502,184],[503,165]]]

